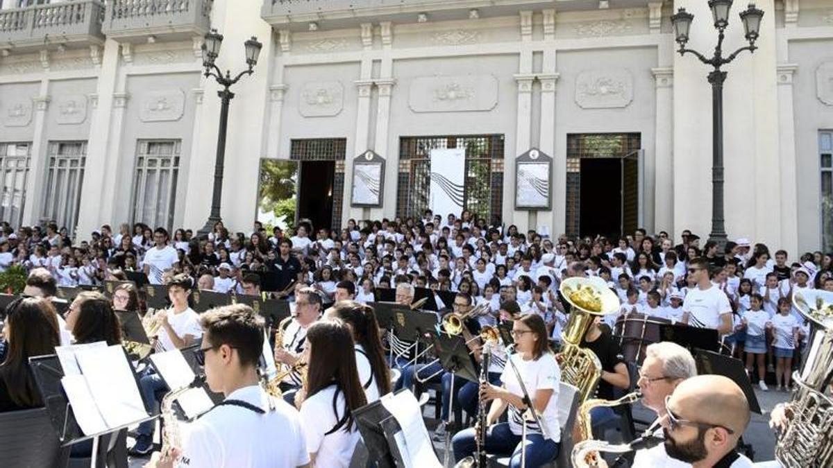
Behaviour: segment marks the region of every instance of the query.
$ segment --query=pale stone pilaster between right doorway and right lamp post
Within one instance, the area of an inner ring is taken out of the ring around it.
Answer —
[[[674,69],[671,67],[652,68],[651,73],[656,83],[653,231],[666,231],[673,236],[676,232],[674,227]],[[646,173],[651,172],[646,171]],[[646,192],[648,197],[651,197],[651,192]]]

